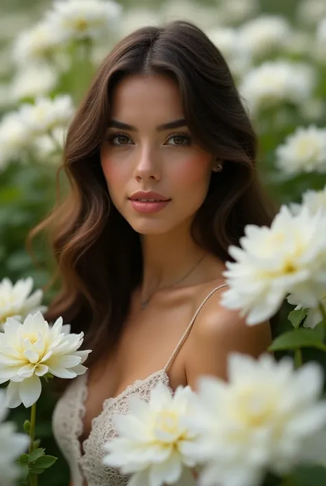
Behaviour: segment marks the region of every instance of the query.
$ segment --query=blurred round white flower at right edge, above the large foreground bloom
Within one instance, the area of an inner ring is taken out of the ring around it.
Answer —
[[[276,148],[276,164],[287,174],[326,173],[326,128],[298,127]]]

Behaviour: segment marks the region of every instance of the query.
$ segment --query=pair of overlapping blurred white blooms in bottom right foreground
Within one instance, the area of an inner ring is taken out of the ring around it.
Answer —
[[[133,473],[132,486],[195,485],[190,468],[202,486],[259,486],[266,472],[325,463],[322,393],[319,365],[294,370],[289,358],[230,354],[228,383],[204,376],[197,393],[179,387],[171,396],[160,383],[149,403],[129,398],[104,462]]]

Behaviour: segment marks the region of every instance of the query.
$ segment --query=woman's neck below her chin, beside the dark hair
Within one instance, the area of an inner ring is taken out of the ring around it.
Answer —
[[[168,234],[143,235],[142,253],[141,298],[145,301],[191,272],[205,252],[196,245],[188,231],[178,228]]]

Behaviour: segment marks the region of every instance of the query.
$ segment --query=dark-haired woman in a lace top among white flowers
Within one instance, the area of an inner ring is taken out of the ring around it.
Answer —
[[[54,413],[74,486],[127,484],[102,444],[131,394],[195,389],[226,378],[229,352],[268,347],[269,323],[219,304],[228,246],[273,216],[255,158],[226,62],[191,23],[141,28],[102,63],[67,135],[69,196],[33,232],[52,228],[63,281],[46,318],[93,350]]]

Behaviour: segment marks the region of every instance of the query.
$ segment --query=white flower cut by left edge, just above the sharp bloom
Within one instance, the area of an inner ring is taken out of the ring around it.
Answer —
[[[0,329],[8,317],[21,321],[28,314],[47,311],[47,307],[41,305],[43,291],[35,290],[31,294],[33,285],[31,277],[20,279],[14,285],[7,278],[0,282]]]

